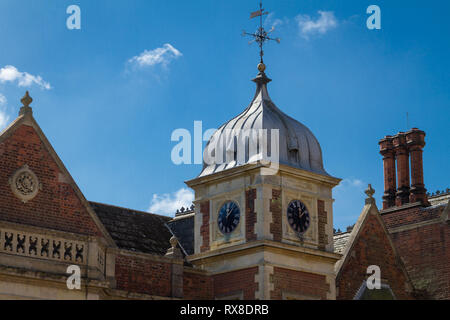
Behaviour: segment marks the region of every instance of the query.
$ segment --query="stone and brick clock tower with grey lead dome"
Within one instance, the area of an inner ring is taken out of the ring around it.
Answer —
[[[195,191],[195,250],[216,299],[335,299],[332,189],[317,139],[269,97],[260,63],[256,94],[204,152]]]

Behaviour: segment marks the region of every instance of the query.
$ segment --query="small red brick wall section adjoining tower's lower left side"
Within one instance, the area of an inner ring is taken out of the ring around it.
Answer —
[[[183,276],[184,299],[211,300],[213,296],[212,278],[206,274],[185,271]]]

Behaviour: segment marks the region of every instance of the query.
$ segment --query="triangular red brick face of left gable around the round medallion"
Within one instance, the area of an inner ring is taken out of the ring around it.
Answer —
[[[14,196],[9,185],[9,179],[24,165],[42,184],[42,190],[27,203]],[[0,168],[0,220],[102,236],[32,127],[22,125],[0,143]]]

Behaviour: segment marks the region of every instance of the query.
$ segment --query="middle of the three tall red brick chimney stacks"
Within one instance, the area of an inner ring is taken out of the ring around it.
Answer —
[[[397,160],[397,197],[395,205],[401,206],[409,203],[409,152],[406,144],[406,134],[400,132],[392,139],[395,158]]]

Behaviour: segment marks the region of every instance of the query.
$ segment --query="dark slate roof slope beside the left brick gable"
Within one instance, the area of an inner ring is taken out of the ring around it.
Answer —
[[[171,218],[97,202],[90,205],[120,249],[165,255],[170,248]]]

